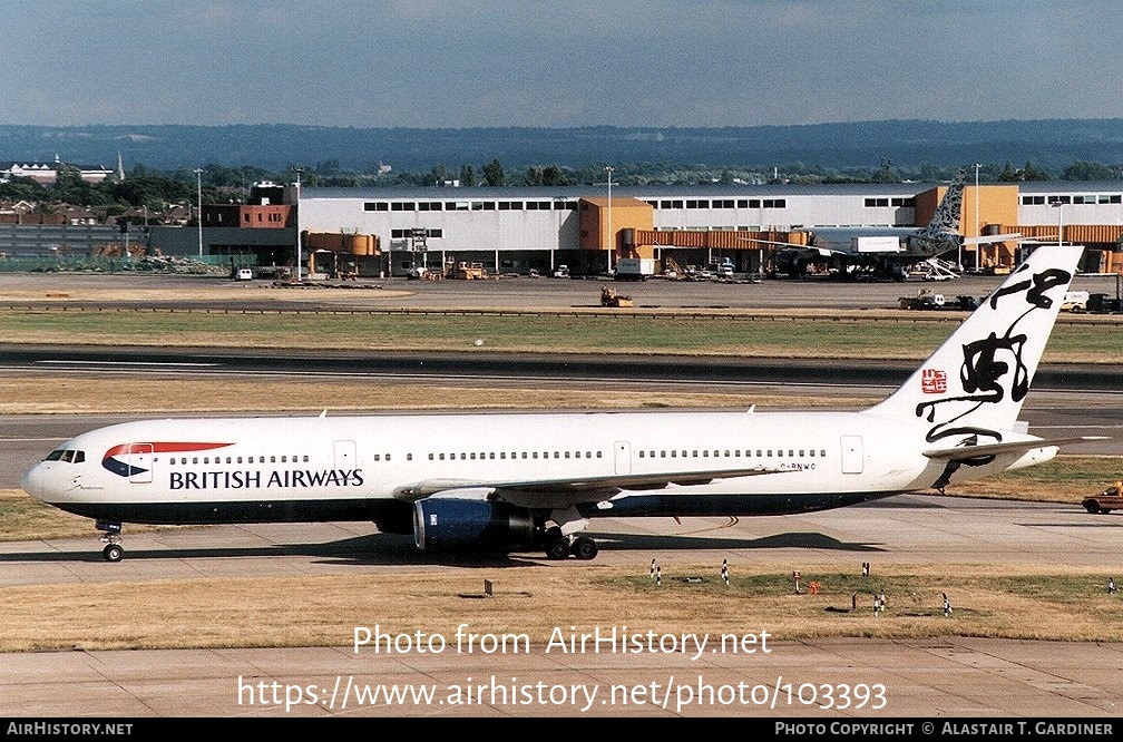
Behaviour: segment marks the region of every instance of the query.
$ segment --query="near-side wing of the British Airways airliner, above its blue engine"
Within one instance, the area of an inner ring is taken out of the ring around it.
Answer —
[[[705,471],[659,471],[658,474],[615,474],[603,477],[573,479],[527,479],[515,482],[478,482],[467,479],[427,479],[401,487],[398,500],[418,501],[433,495],[451,495],[464,491],[489,492],[489,498],[528,507],[564,507],[576,503],[608,500],[623,489],[663,489],[669,485],[702,485],[715,479],[751,477],[761,474],[785,474],[793,469],[764,466],[745,469]]]

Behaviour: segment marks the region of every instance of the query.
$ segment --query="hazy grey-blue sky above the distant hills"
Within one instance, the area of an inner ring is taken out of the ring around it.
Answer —
[[[1123,3],[0,0],[0,123],[1121,118]]]

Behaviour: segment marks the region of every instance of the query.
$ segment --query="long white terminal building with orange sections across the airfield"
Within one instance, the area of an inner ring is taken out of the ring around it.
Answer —
[[[475,265],[486,274],[603,274],[621,258],[669,265],[731,262],[738,272],[769,267],[773,246],[806,245],[816,231],[916,228],[947,185],[713,184],[566,187],[302,189],[273,186],[231,212],[203,205],[203,250],[292,265],[302,235],[303,271],[335,277],[407,275]],[[256,213],[256,211],[263,213]],[[267,213],[265,213],[267,211]],[[220,212],[226,213],[221,216]],[[1123,272],[1123,183],[1032,182],[964,190],[965,237],[1020,232],[1079,242],[1081,269]],[[170,230],[161,230],[167,232]],[[174,230],[171,230],[174,231]],[[165,253],[191,254],[193,235],[153,235]],[[191,239],[186,239],[186,238]],[[179,239],[175,239],[179,238]],[[965,246],[968,268],[1010,267],[1017,245]]]

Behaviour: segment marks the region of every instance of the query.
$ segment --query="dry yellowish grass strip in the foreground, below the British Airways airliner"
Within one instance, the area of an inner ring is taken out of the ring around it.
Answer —
[[[754,632],[775,639],[920,638],[947,634],[1123,641],[1123,598],[1104,576],[1059,566],[876,565],[870,577],[838,565],[661,566],[657,586],[641,565],[495,569],[419,566],[386,574],[149,579],[4,588],[0,651],[341,645],[351,626],[394,633],[526,634],[554,626],[627,625],[631,631]],[[886,574],[880,574],[885,571]],[[494,595],[483,598],[492,579]],[[816,583],[811,593],[809,583]],[[873,611],[884,590],[885,611]],[[942,595],[951,602],[944,615]],[[594,597],[595,596],[595,597]]]

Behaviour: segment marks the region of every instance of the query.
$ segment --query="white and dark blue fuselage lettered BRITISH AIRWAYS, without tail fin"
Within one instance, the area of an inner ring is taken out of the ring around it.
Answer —
[[[471,483],[458,496],[485,498],[490,483],[659,473],[685,484],[626,487],[583,503],[582,515],[797,513],[924,489],[943,470],[867,412],[148,420],[77,436],[60,451],[28,473],[30,494],[102,521],[177,524],[364,520],[400,529],[419,483]],[[752,468],[768,473],[688,476]]]

